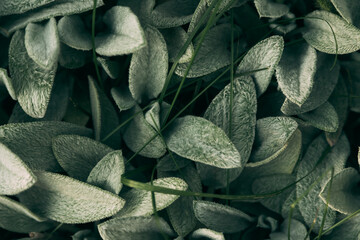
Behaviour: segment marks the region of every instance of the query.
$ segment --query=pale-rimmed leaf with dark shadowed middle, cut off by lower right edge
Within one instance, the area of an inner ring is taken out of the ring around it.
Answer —
[[[343,214],[351,214],[359,210],[359,172],[354,168],[345,168],[336,174],[332,179],[330,196],[328,197],[330,181],[331,179],[320,192],[320,197],[324,203],[328,200],[330,208]]]

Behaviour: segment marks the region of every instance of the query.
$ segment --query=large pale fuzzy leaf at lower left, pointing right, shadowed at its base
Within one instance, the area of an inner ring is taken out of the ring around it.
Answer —
[[[94,222],[114,215],[125,203],[113,193],[64,175],[42,171],[35,175],[36,184],[19,198],[39,216],[57,222]]]

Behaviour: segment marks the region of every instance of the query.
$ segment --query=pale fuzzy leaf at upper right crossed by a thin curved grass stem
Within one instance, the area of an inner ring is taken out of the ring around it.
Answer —
[[[314,11],[304,22],[304,39],[321,52],[347,54],[360,49],[360,30],[334,13]]]

